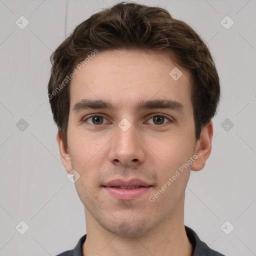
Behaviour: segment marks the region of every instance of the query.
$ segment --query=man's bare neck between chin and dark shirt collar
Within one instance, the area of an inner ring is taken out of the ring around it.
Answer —
[[[185,232],[183,210],[182,214],[171,216],[147,233],[134,237],[118,236],[105,230],[86,209],[85,217],[87,234],[82,245],[83,256],[191,256],[192,254],[192,245]]]

